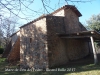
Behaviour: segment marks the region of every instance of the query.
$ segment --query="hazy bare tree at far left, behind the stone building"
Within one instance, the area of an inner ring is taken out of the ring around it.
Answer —
[[[15,24],[16,21],[14,19],[10,19],[10,18],[5,18],[3,19],[2,23],[1,23],[1,29],[3,32],[3,39],[5,42],[5,46],[8,45],[9,41],[10,41],[10,36],[11,34],[13,34],[15,32]]]

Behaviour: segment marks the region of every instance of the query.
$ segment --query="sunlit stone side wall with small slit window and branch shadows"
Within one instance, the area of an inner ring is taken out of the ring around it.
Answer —
[[[46,19],[21,28],[20,61],[22,68],[48,67]]]

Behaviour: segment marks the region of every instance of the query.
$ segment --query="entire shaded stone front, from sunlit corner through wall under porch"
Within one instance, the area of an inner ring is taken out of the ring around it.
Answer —
[[[59,32],[57,29],[59,29]],[[66,33],[64,17],[48,16],[47,30],[49,67],[63,65],[89,54],[87,41],[83,39],[62,39],[57,36],[57,33]]]

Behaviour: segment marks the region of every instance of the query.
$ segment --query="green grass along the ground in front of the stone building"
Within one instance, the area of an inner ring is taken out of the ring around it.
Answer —
[[[94,64],[80,64],[61,66],[60,69],[66,69],[67,71],[50,71],[50,72],[19,72],[19,71],[5,71],[5,68],[18,68],[17,66],[9,66],[5,62],[5,58],[0,58],[0,75],[100,75],[100,63]],[[71,70],[71,71],[68,71]]]

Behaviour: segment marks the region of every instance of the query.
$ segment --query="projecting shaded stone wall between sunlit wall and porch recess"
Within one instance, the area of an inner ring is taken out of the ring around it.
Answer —
[[[59,29],[60,28],[60,29]],[[56,33],[65,33],[64,18],[47,17],[48,57],[49,67],[59,66],[68,62],[63,40]],[[59,30],[56,30],[59,29]]]

